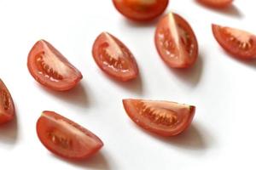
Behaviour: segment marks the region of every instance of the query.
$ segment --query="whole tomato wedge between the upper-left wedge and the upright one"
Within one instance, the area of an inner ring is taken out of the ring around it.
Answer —
[[[131,51],[108,32],[102,32],[96,38],[92,54],[102,71],[119,81],[126,82],[138,75],[137,62]]]

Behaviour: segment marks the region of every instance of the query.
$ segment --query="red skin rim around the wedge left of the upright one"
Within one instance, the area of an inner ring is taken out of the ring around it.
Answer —
[[[98,57],[98,54],[97,54],[97,51],[99,49],[99,44],[100,42],[102,42],[102,37],[104,34],[108,34],[109,36],[111,36],[114,41],[120,43],[124,48],[125,50],[129,51],[129,53],[131,54],[131,51],[129,48],[127,48],[125,46],[125,44],[123,42],[121,42],[117,37],[114,37],[112,34],[108,33],[108,32],[102,32],[98,37],[96,37],[96,40],[93,44],[93,48],[92,48],[92,56],[93,56],[93,59],[95,60],[96,62],[96,65],[98,65],[98,67],[104,72],[106,73],[109,77],[113,77],[115,80],[117,81],[121,81],[121,82],[130,82],[131,80],[134,80],[138,77],[139,75],[139,69],[138,69],[138,66],[137,66],[137,61],[136,59],[134,58],[133,54],[131,54],[131,65],[132,65],[132,72],[130,75],[120,75],[118,73],[113,73],[112,71],[108,71],[106,69],[103,68],[102,66],[102,61],[101,59],[99,59]]]

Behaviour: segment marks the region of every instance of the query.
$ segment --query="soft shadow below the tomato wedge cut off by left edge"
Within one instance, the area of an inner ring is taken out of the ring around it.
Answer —
[[[18,136],[18,122],[15,115],[14,120],[0,125],[0,143],[15,144]]]

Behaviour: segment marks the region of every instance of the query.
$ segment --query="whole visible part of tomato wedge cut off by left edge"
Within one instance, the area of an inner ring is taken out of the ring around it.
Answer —
[[[0,79],[0,125],[13,120],[15,105],[8,88]]]

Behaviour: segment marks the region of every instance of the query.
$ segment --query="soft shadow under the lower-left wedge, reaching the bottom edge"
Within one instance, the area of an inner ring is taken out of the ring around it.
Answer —
[[[75,167],[83,167],[84,169],[87,169],[87,168],[92,168],[97,170],[110,169],[106,157],[101,152],[96,153],[96,155],[91,156],[90,158],[84,161],[70,161],[62,157],[55,156],[53,154],[51,154],[51,156],[55,157],[56,159],[60,159],[61,161],[65,161],[67,163],[73,164],[73,166]]]

